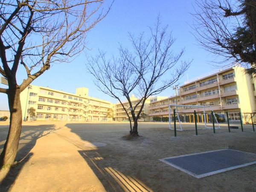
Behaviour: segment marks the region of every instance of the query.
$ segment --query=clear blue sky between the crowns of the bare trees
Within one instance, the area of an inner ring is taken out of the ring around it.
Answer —
[[[104,6],[107,7],[110,3],[111,1],[107,0]],[[71,93],[75,93],[76,87],[88,87],[89,96],[116,103],[115,99],[101,93],[93,84],[93,77],[86,71],[85,55],[96,55],[98,50],[118,55],[119,43],[125,47],[130,45],[128,32],[139,34],[147,31],[148,26],[154,25],[158,14],[162,24],[168,25],[173,37],[176,38],[172,47],[174,52],[179,52],[185,47],[182,59],[186,61],[193,59],[191,67],[180,79],[180,85],[187,80],[187,77],[194,79],[196,76],[216,70],[210,62],[215,59],[215,55],[202,49],[192,35],[193,30],[189,24],[193,20],[190,14],[194,12],[193,3],[194,0],[115,0],[107,17],[88,33],[88,49],[71,63],[53,64],[50,70],[32,84]],[[20,67],[17,79],[21,82],[26,78],[24,75]],[[171,96],[173,90],[170,87],[160,95]],[[0,110],[8,110],[7,96],[3,93],[0,93]]]

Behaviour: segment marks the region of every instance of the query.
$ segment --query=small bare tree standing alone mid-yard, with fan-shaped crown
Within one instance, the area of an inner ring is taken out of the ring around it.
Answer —
[[[144,33],[137,38],[129,35],[133,51],[120,46],[119,57],[109,60],[105,53],[100,52],[98,57],[88,59],[87,65],[88,71],[96,79],[96,86],[122,105],[133,136],[138,135],[138,119],[145,101],[172,86],[190,64],[182,62],[177,65],[183,50],[177,55],[172,52],[174,39],[167,33],[167,26],[161,28],[159,17],[154,29],[150,28],[150,33],[149,39],[145,39]],[[140,99],[136,102],[131,100],[131,94]],[[121,101],[123,97],[128,101],[129,108]]]

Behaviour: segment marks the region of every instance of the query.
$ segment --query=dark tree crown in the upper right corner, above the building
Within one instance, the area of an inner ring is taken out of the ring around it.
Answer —
[[[256,1],[197,0],[195,37],[210,52],[256,73]]]

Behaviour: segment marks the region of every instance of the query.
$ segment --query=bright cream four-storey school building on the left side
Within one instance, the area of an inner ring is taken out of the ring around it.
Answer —
[[[49,87],[29,85],[20,95],[22,117],[30,120],[109,121],[111,102],[88,96],[88,89],[76,89],[76,94]],[[35,117],[29,116],[29,108],[35,109]]]

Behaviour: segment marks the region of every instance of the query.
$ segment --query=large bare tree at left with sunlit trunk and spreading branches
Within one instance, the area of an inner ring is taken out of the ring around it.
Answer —
[[[0,167],[12,165],[20,139],[20,93],[53,63],[70,61],[85,46],[87,32],[108,13],[104,0],[1,0],[0,74],[8,80],[9,134],[0,155]],[[26,78],[17,83],[22,65]]]

